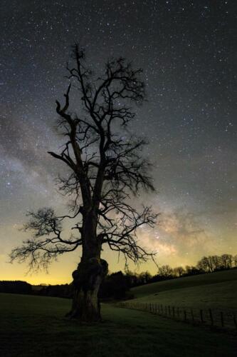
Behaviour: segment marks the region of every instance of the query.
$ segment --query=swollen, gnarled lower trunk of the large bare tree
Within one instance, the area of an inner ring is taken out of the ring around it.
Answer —
[[[82,258],[73,271],[74,296],[68,317],[88,322],[101,320],[98,291],[106,274],[107,261],[100,258],[83,261]]]

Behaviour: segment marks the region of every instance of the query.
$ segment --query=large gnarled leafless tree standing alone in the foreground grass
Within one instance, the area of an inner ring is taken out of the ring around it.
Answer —
[[[57,216],[52,208],[29,213],[26,230],[33,238],[14,248],[11,259],[29,260],[31,268],[47,267],[52,258],[82,247],[78,268],[73,272],[75,295],[68,314],[82,321],[100,320],[98,289],[107,273],[107,262],[101,258],[102,245],[123,253],[137,263],[153,257],[137,241],[137,229],[154,226],[157,214],[143,206],[131,206],[131,194],[140,189],[154,191],[149,176],[150,164],[142,159],[145,141],[129,134],[135,129],[135,111],[131,104],[144,100],[141,69],[133,69],[125,59],[107,61],[98,78],[85,67],[84,51],[73,46],[73,63],[67,66],[70,84],[65,102],[56,101],[58,128],[65,136],[54,159],[68,168],[68,176],[58,179],[59,188],[73,199],[71,212]],[[70,91],[79,91],[80,115],[73,112]],[[75,236],[63,238],[63,221],[73,223]],[[74,222],[73,221],[73,222]]]

